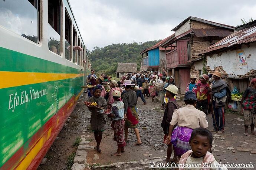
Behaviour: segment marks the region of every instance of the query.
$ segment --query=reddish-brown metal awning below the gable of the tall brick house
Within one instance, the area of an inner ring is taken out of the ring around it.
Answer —
[[[227,29],[192,29],[197,37],[227,37],[234,31]]]

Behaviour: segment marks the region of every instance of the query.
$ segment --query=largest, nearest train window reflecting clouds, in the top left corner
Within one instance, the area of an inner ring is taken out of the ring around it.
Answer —
[[[1,0],[0,25],[39,43],[39,0]]]

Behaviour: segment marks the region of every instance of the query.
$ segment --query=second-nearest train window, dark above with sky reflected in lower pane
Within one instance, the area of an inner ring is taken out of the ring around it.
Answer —
[[[48,47],[60,55],[60,1],[48,0]]]

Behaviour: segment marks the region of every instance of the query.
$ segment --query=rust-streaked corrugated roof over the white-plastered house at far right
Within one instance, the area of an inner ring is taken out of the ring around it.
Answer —
[[[201,51],[200,54],[205,54],[210,51],[218,50],[225,47],[230,47],[236,44],[244,44],[256,41],[256,26],[245,28],[240,31],[236,31],[228,37],[220,40],[219,42],[211,45],[205,50]]]

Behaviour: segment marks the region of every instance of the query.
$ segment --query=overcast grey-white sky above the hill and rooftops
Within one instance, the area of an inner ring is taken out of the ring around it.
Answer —
[[[189,16],[231,26],[256,19],[255,0],[69,0],[88,50],[144,43],[174,32]]]

